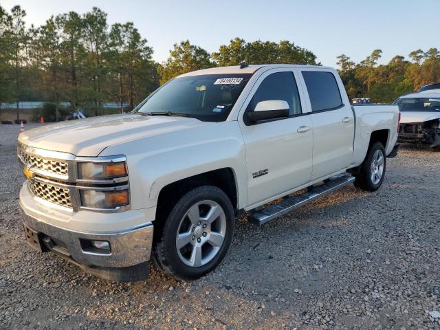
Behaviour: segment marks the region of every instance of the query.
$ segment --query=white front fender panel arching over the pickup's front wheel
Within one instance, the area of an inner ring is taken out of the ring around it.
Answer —
[[[232,168],[239,208],[248,201],[245,148],[237,122],[208,123],[104,151],[117,153],[127,158],[132,209],[155,207],[160,190],[168,184],[219,168]]]

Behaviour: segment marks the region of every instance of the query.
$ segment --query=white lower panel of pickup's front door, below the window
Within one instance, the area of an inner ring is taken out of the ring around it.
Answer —
[[[301,126],[310,129],[298,133]],[[242,128],[248,166],[249,205],[310,181],[311,127],[310,115],[301,115]],[[267,174],[261,175],[265,170]]]

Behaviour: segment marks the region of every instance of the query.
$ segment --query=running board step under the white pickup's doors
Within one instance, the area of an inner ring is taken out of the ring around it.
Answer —
[[[281,217],[300,206],[327,195],[329,192],[347,186],[353,181],[355,181],[355,178],[351,175],[338,175],[331,177],[325,180],[324,184],[321,184],[320,186],[311,186],[307,188],[306,192],[303,192],[300,195],[288,195],[279,203],[272,204],[263,209],[257,208],[256,210],[250,211],[248,219],[253,223],[262,225],[267,221]]]

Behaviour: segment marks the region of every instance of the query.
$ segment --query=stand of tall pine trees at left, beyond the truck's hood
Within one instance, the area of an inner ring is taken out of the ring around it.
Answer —
[[[93,8],[52,16],[36,28],[25,26],[19,5],[0,7],[0,102],[69,101],[100,114],[103,102],[130,107],[158,84],[153,49],[133,23],[107,25]]]

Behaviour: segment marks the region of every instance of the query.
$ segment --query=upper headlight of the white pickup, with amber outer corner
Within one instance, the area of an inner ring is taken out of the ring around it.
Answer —
[[[126,177],[126,162],[78,163],[78,178],[82,180],[105,180]]]

